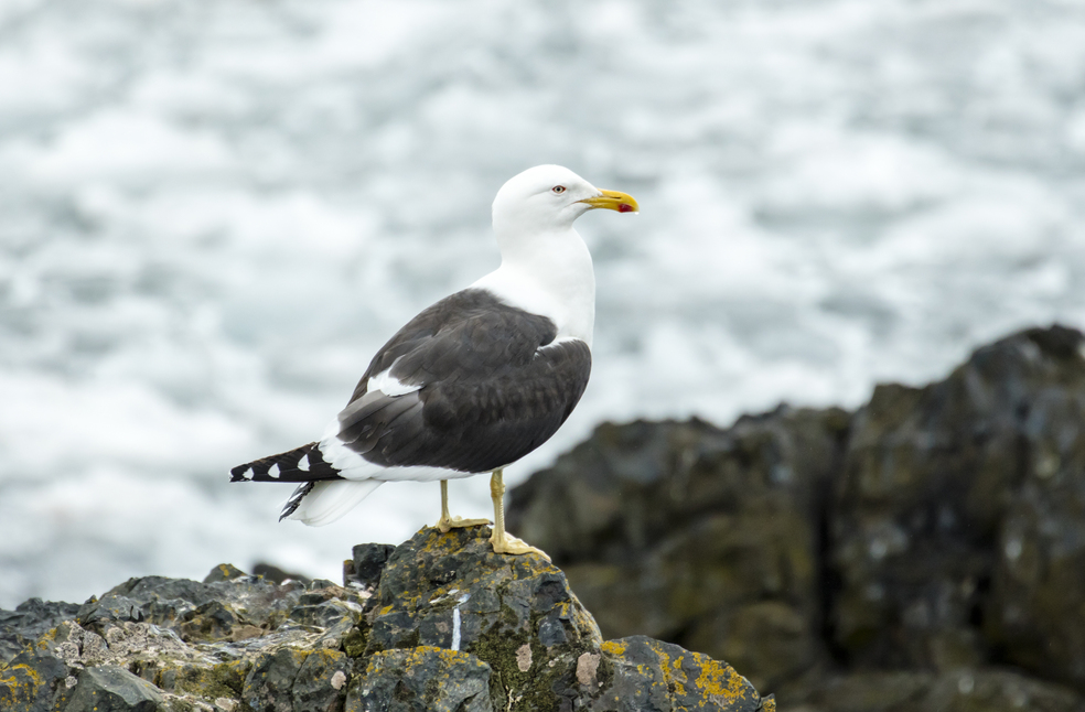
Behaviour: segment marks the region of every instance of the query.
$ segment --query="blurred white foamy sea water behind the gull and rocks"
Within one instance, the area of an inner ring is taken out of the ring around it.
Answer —
[[[227,470],[320,436],[493,269],[497,187],[590,214],[602,420],[855,407],[1085,325],[1085,4],[0,3],[0,606],[266,560],[329,579],[438,487],[322,529]],[[490,511],[485,477],[454,509]]]

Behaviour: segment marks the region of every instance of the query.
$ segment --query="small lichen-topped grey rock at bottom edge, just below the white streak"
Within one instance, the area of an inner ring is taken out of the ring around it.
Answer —
[[[346,712],[491,712],[490,666],[469,652],[421,646],[369,657]]]

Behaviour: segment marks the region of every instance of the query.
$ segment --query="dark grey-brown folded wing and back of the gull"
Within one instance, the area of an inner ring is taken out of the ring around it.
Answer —
[[[374,357],[340,413],[340,440],[382,466],[485,472],[546,442],[576,407],[591,373],[579,339],[483,290],[438,302]],[[418,390],[367,392],[385,370]]]

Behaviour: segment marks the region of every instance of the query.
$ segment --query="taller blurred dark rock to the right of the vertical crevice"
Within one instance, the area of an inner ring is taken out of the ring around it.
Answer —
[[[831,514],[834,643],[852,665],[1005,655],[1085,689],[1082,344],[1029,330],[856,414]]]

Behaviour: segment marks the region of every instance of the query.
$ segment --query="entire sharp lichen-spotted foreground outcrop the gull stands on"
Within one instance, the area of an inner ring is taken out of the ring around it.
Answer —
[[[63,712],[775,710],[727,664],[604,641],[565,574],[487,528],[363,544],[344,585],[132,579],[0,613],[0,709]]]

